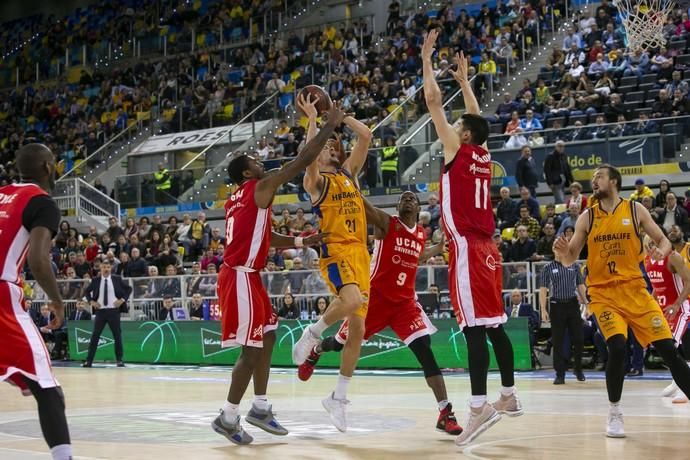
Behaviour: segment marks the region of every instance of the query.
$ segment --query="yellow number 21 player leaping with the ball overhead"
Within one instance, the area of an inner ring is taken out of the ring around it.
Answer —
[[[317,131],[315,104],[300,104],[300,109],[309,118],[307,141]],[[327,235],[321,247],[321,272],[337,298],[317,323],[304,329],[292,349],[292,360],[302,364],[321,342],[321,334],[328,326],[348,320],[349,332],[340,359],[338,382],[333,393],[323,400],[331,421],[344,432],[347,430],[347,386],[359,360],[369,296],[367,222],[357,175],[367,157],[371,132],[364,123],[352,117],[346,117],[343,122],[357,135],[350,157],[346,159],[340,140],[332,139],[304,176],[304,189],[311,197],[320,231]]]

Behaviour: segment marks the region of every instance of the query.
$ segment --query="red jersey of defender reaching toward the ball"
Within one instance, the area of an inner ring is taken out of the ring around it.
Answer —
[[[229,267],[261,270],[266,266],[271,243],[271,206],[261,209],[254,201],[258,179],[239,186],[225,203],[225,253]]]

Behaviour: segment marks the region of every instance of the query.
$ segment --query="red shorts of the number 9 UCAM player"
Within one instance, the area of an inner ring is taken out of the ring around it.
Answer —
[[[400,340],[409,345],[415,339],[431,335],[436,327],[431,324],[422,306],[416,300],[391,304],[386,302],[385,295],[372,291],[369,310],[364,320],[364,340],[390,327]],[[347,321],[340,326],[335,339],[340,343],[347,340]]]

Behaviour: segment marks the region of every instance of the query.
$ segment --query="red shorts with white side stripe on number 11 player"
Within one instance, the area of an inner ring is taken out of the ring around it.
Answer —
[[[508,321],[501,296],[501,256],[494,242],[456,235],[449,246],[448,287],[460,329]]]

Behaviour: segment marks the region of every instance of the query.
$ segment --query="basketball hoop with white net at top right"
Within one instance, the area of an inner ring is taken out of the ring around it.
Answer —
[[[660,48],[666,44],[664,25],[673,0],[613,0],[623,20],[628,49]]]

